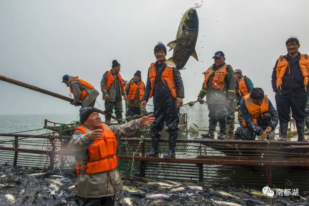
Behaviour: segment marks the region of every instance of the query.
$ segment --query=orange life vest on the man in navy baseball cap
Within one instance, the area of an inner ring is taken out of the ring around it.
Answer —
[[[214,71],[213,66],[208,68],[206,70],[206,72],[203,73],[204,76],[205,76],[204,87],[207,89],[207,87],[208,87],[208,80],[214,74],[214,79],[213,79],[211,88],[213,88],[213,89],[223,89],[224,86],[225,86],[224,78],[225,78],[225,75],[228,74],[228,72],[226,72],[227,66],[230,66],[230,65],[224,64],[217,71]]]

